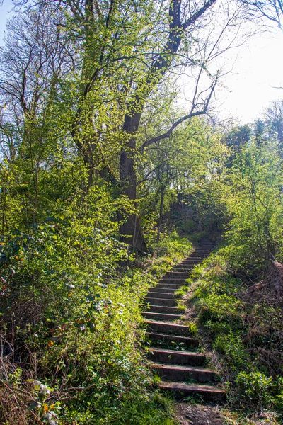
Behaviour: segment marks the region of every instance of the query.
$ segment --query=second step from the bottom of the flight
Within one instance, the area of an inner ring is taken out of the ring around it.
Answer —
[[[151,368],[163,378],[163,380],[211,382],[215,379],[215,372],[209,368],[184,365],[166,365],[163,363],[151,363]]]

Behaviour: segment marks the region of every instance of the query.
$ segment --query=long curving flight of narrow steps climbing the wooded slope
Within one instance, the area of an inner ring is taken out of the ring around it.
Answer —
[[[206,356],[197,352],[199,341],[181,323],[175,291],[214,248],[203,241],[182,263],[173,267],[149,288],[143,315],[151,343],[151,367],[161,377],[160,387],[173,392],[177,399],[198,395],[204,401],[221,402],[226,392],[218,387],[214,370],[206,366]]]

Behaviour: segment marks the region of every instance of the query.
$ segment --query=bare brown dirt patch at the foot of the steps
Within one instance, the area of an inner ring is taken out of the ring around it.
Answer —
[[[224,425],[219,407],[178,403],[176,419],[180,425]]]

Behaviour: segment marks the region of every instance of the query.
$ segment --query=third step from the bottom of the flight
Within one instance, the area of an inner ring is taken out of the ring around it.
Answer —
[[[205,363],[205,356],[202,353],[163,348],[150,348],[149,358],[157,363],[173,363],[173,365],[202,366]]]

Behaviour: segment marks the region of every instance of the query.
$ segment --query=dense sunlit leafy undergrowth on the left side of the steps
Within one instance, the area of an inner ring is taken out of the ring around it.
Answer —
[[[2,239],[2,425],[173,425],[146,368],[141,305],[191,244],[172,234],[137,261],[110,218],[95,221],[58,213]]]

